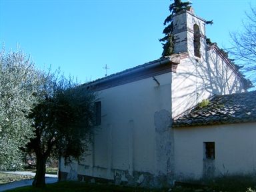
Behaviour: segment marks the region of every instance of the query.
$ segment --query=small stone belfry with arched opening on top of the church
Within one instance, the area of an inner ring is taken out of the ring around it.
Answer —
[[[174,53],[189,52],[190,56],[205,59],[205,22],[194,14],[193,7],[173,15]]]

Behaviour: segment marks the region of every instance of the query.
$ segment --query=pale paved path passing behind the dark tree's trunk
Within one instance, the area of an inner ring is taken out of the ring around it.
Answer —
[[[19,174],[19,175],[33,175],[35,176],[35,173],[27,172],[27,171],[3,171],[3,173],[13,173],[13,174]],[[57,175],[50,175],[45,174],[45,183],[56,183],[58,181]],[[5,185],[0,185],[0,191],[5,191],[8,189],[15,189],[17,187],[24,187],[27,185],[32,185],[33,179],[29,180],[23,180],[23,181],[16,181],[13,183],[8,183]]]

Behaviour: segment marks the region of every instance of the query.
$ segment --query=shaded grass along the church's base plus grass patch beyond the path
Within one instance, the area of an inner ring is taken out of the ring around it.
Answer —
[[[0,173],[0,185],[3,183],[10,183],[14,181],[33,179],[31,175],[16,175]],[[195,192],[195,191],[207,191],[207,192],[256,192],[256,175],[223,175],[215,179],[201,179],[201,180],[190,180],[188,183],[177,183],[177,185],[171,189],[171,192]],[[191,183],[191,184],[189,184]],[[251,189],[249,189],[251,187]],[[167,192],[169,189],[142,189],[133,187],[118,187],[114,185],[100,185],[94,183],[84,182],[71,182],[61,181],[58,183],[47,184],[43,189],[35,189],[32,186],[20,187],[17,189],[11,189],[9,192],[18,191],[151,191],[151,192]]]

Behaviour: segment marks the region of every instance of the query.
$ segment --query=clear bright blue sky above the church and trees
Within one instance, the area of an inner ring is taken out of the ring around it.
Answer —
[[[229,31],[256,0],[192,0],[195,15],[211,21],[207,37],[230,47]],[[16,43],[38,67],[58,67],[81,83],[159,59],[163,21],[173,1],[0,0],[0,43]]]

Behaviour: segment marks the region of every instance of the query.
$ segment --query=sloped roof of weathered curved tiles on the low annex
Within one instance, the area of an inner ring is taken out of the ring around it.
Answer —
[[[172,127],[250,122],[256,122],[256,91],[215,95],[207,106],[174,119]]]

